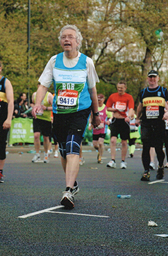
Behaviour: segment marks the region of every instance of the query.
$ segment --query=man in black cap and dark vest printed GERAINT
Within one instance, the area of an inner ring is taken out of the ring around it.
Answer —
[[[142,89],[140,93],[140,102],[137,108],[136,124],[139,124],[141,118],[141,140],[143,143],[142,164],[144,165],[144,174],[142,181],[148,181],[150,178],[150,148],[154,147],[157,154],[159,166],[157,169],[157,179],[164,177],[164,152],[163,144],[166,134],[165,121],[168,112],[164,113],[165,104],[168,101],[167,89],[158,85],[159,74],[155,70],[149,71],[147,75],[149,87]]]

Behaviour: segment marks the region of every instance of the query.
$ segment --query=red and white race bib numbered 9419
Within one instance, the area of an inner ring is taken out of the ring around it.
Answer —
[[[60,106],[74,107],[77,105],[78,91],[58,90],[57,104]]]

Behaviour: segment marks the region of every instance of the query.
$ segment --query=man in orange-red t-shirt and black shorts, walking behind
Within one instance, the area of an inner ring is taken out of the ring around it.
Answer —
[[[118,92],[111,94],[106,102],[107,110],[113,112],[111,122],[111,161],[107,167],[116,168],[116,141],[118,134],[121,137],[121,169],[126,169],[126,153],[128,149],[127,140],[129,139],[129,121],[134,118],[134,100],[133,97],[126,93],[126,82],[120,81],[117,85]],[[127,115],[128,112],[128,115]]]

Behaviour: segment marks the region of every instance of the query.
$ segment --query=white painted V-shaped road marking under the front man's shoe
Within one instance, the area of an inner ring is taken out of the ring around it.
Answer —
[[[44,210],[39,210],[38,212],[32,212],[31,214],[26,214],[22,216],[18,216],[17,218],[26,219],[27,217],[31,217],[38,214],[43,214],[44,212],[50,212],[52,214],[70,214],[70,215],[82,215],[82,216],[90,216],[90,217],[100,217],[100,218],[109,218],[109,216],[103,216],[103,215],[91,215],[91,214],[75,214],[73,212],[53,212],[52,210],[63,208],[63,205],[58,205],[55,207],[51,207]]]

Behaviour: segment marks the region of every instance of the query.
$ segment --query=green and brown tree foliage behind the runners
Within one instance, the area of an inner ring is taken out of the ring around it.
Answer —
[[[136,105],[146,86],[149,69],[157,69],[167,86],[166,0],[32,0],[30,5],[30,52],[27,53],[27,0],[0,2],[0,59],[3,74],[20,92],[36,91],[50,57],[62,51],[58,34],[65,24],[76,24],[83,36],[81,51],[95,62],[100,77],[98,93],[106,99],[124,79]],[[162,36],[156,36],[162,31]],[[161,71],[162,69],[162,71]],[[53,87],[50,88],[53,92]]]

